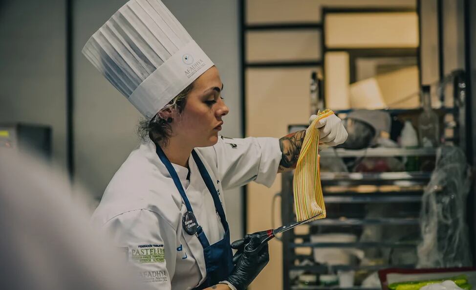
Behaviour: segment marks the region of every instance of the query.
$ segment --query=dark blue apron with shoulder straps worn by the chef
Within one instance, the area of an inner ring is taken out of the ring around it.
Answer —
[[[182,199],[185,202],[187,211],[193,212],[192,206],[190,205],[189,199],[185,194],[185,190],[183,189],[182,183],[180,182],[180,179],[178,178],[178,175],[175,172],[172,163],[170,163],[167,156],[165,156],[160,146],[156,146],[156,153],[159,156],[160,160],[162,160],[162,163],[164,163],[165,167],[167,167],[167,170],[169,171],[169,174],[172,177],[178,192],[180,192],[180,195],[182,196]],[[205,266],[207,270],[207,277],[205,281],[200,286],[195,288],[196,290],[202,290],[216,285],[218,284],[218,282],[226,280],[226,278],[228,278],[234,267],[233,252],[230,246],[230,230],[228,227],[228,223],[226,222],[225,211],[223,210],[220,198],[218,197],[218,193],[215,189],[215,183],[212,181],[212,178],[210,178],[210,175],[208,174],[205,165],[203,165],[202,161],[196,154],[195,149],[192,151],[192,156],[194,157],[195,163],[198,167],[198,171],[200,172],[200,175],[203,181],[205,182],[205,185],[207,185],[207,188],[210,191],[210,194],[212,195],[216,212],[218,213],[218,216],[221,220],[221,224],[223,225],[223,229],[225,230],[225,236],[223,237],[223,239],[213,245],[210,245],[207,237],[205,236],[205,232],[203,232],[202,227],[198,225],[196,229],[195,235],[197,236],[198,240],[200,241],[200,244],[203,247],[203,256],[205,258]]]

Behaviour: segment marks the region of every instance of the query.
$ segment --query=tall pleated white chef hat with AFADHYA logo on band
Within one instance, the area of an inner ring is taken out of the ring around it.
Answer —
[[[213,66],[160,0],[128,1],[83,54],[148,118]]]

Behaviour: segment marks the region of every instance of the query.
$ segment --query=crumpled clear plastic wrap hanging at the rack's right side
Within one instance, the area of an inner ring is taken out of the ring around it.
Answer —
[[[422,197],[418,268],[472,266],[465,222],[469,189],[466,156],[458,147],[441,147]]]

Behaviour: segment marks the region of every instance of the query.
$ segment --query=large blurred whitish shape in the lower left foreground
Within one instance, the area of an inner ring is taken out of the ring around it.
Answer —
[[[65,175],[11,150],[0,150],[0,160],[0,289],[144,289],[124,251],[90,228]]]

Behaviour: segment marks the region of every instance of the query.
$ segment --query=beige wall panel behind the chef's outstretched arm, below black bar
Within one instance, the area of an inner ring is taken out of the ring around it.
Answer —
[[[309,118],[308,85],[311,68],[248,69],[246,73],[246,135],[281,137],[288,124],[303,124]],[[281,191],[281,175],[271,188],[248,185],[247,231],[271,228],[271,200]],[[291,193],[288,193],[291,194]],[[275,224],[281,225],[280,202]],[[251,289],[281,289],[282,248],[274,239],[269,244],[270,263],[252,283]]]

